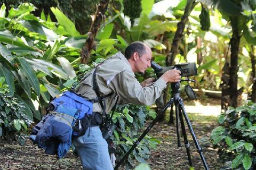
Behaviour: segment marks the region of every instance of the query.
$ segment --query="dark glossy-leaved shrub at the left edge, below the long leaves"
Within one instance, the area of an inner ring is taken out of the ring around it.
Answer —
[[[32,123],[29,116],[25,114],[25,105],[17,98],[10,96],[7,84],[3,84],[5,79],[0,78],[0,137],[7,140],[18,140],[21,145],[25,138],[21,132],[27,131],[27,127]]]

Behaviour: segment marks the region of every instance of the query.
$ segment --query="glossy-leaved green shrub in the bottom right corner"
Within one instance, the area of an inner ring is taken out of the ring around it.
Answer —
[[[256,168],[256,104],[230,108],[219,117],[212,131],[213,145],[219,148],[222,160],[232,161],[232,168]],[[230,168],[231,168],[230,167]]]

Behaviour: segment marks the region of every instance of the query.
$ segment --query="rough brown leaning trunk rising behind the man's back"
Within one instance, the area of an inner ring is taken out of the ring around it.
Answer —
[[[92,21],[91,28],[88,32],[87,40],[80,53],[80,63],[82,64],[86,64],[90,60],[90,52],[95,47],[94,38],[98,33],[101,21],[105,19],[105,12],[107,11],[108,3],[109,0],[101,0],[97,6],[97,11],[94,14],[94,19]]]

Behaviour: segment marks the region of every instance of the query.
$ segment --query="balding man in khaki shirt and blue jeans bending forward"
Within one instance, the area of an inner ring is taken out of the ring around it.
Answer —
[[[180,81],[180,71],[170,70],[155,82],[153,82],[154,78],[150,78],[139,83],[134,73],[144,73],[150,67],[151,55],[151,49],[137,41],[125,49],[124,56],[117,53],[97,66],[95,79],[100,96],[113,93],[106,99],[106,113],[110,112],[117,98],[119,98],[118,104],[151,105],[166,88],[167,82]],[[76,90],[87,99],[97,97],[93,90],[94,71],[95,69],[85,75],[85,79]],[[100,103],[93,104],[93,112],[102,113]],[[90,135],[88,135],[89,131]],[[85,135],[74,140],[74,145],[84,169],[113,169],[108,154],[108,144],[102,138],[99,126],[95,125],[87,129]]]

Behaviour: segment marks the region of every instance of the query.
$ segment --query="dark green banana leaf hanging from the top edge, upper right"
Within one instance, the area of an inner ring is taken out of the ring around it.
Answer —
[[[210,5],[215,8],[218,8],[219,11],[225,13],[226,15],[230,16],[237,16],[240,15],[242,12],[242,8],[239,4],[235,4],[234,1],[230,0],[198,0],[199,2]],[[242,1],[238,1],[242,2]]]

